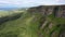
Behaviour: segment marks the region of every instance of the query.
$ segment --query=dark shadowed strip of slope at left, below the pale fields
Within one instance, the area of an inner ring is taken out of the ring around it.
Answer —
[[[4,22],[8,22],[8,21],[17,20],[21,16],[22,16],[22,13],[14,14],[12,16],[10,15],[10,16],[0,17],[0,25],[3,24]]]

